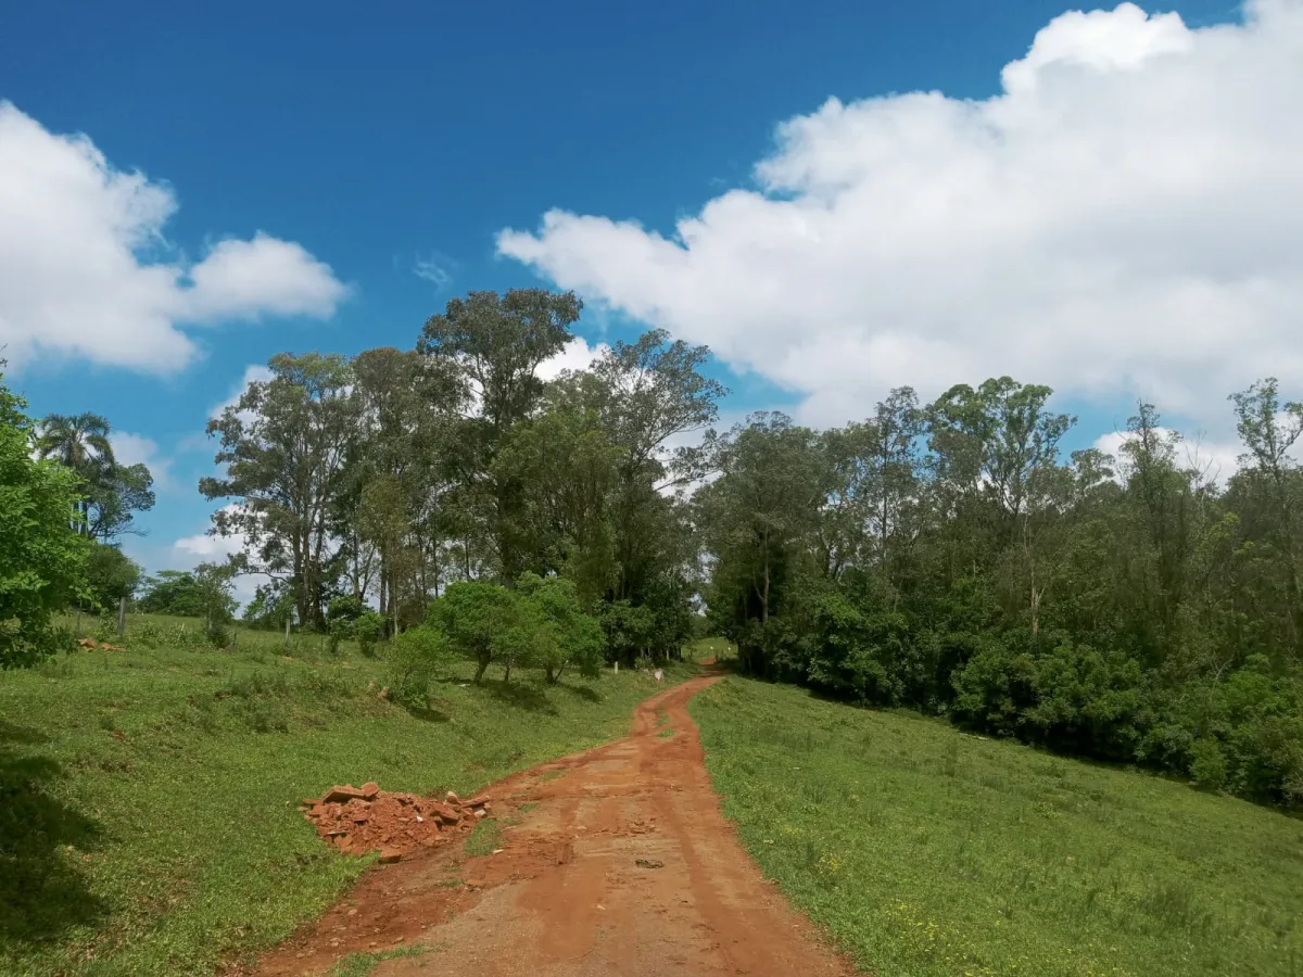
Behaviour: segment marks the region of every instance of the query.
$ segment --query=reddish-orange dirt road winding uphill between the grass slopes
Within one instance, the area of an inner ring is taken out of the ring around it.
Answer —
[[[429,951],[375,977],[853,973],[719,813],[687,710],[711,681],[648,700],[623,740],[490,788],[493,814],[519,818],[502,851],[464,858],[456,843],[369,873],[262,973],[319,974],[356,950],[412,944]]]

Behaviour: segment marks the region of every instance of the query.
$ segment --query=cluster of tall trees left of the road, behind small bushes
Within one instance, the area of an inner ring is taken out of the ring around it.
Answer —
[[[676,654],[700,563],[675,490],[701,455],[672,443],[726,391],[701,373],[705,348],[661,331],[545,382],[580,309],[568,293],[474,292],[410,350],[274,357],[271,379],[208,425],[223,474],[199,486],[225,502],[212,531],[265,581],[249,615],[328,630],[347,598],[397,634],[459,582],[556,577],[610,658]]]

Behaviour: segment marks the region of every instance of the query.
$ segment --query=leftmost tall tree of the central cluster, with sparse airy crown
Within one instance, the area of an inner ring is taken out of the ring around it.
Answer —
[[[253,380],[220,418],[216,464],[225,477],[203,478],[207,499],[235,499],[212,516],[214,535],[242,539],[241,569],[288,586],[308,627],[323,627],[339,576],[332,533],[335,503],[356,430],[353,374],[340,356],[281,353],[270,380]]]

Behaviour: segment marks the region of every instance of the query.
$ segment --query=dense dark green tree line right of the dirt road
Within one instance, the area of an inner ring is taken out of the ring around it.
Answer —
[[[1121,457],[1065,459],[1049,399],[900,388],[863,423],[709,438],[715,627],[756,675],[1303,800],[1303,406],[1234,395],[1220,485],[1149,404]]]

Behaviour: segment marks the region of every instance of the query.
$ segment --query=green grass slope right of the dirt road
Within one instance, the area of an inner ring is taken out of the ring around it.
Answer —
[[[1303,822],[727,679],[691,706],[765,874],[878,977],[1303,974]]]

